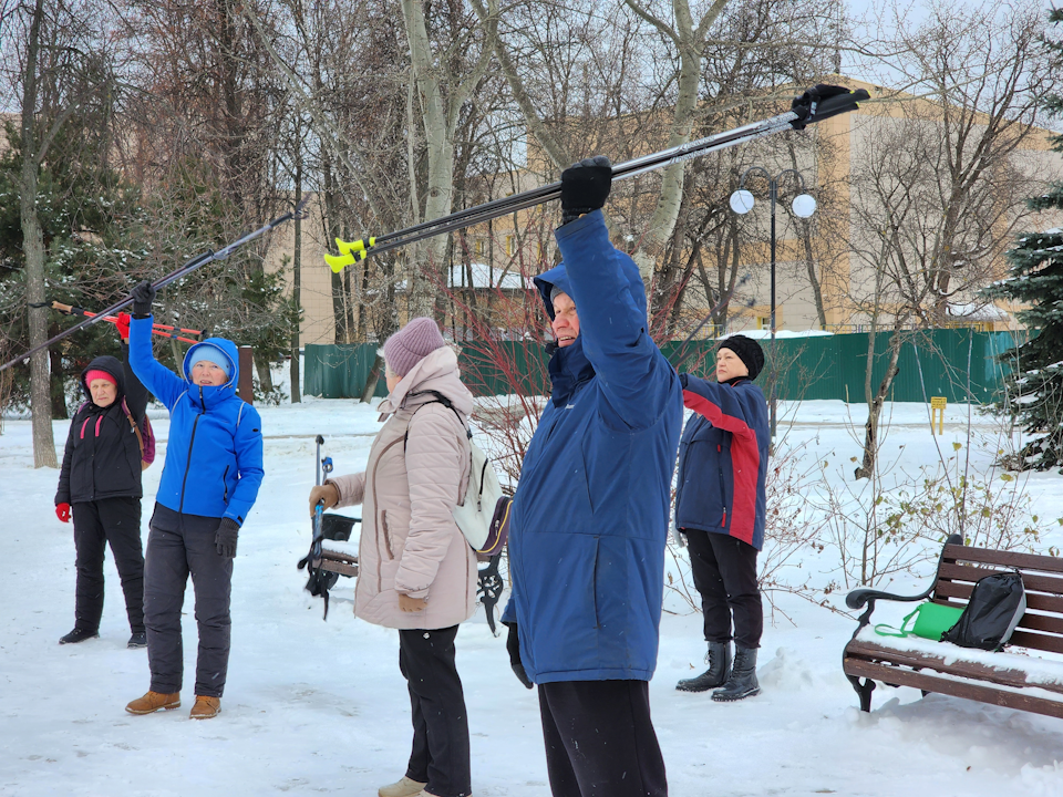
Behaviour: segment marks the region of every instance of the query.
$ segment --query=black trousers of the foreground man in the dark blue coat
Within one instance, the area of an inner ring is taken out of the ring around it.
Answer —
[[[665,797],[664,758],[646,681],[539,685],[554,797]]]

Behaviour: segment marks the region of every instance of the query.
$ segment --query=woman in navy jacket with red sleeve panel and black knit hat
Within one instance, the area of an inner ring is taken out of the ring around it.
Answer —
[[[679,377],[683,404],[695,414],[679,447],[675,527],[687,538],[694,587],[701,593],[709,669],[675,689],[722,687],[713,692],[714,701],[742,700],[761,691],[756,651],[764,614],[756,555],[764,545],[771,431],[767,402],[753,380],[763,368],[760,344],[736,334],[716,349],[715,382]]]

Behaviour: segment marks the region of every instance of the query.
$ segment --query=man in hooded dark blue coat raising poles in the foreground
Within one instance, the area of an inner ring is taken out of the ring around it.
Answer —
[[[647,333],[634,262],[609,242],[599,156],[561,175],[564,262],[536,286],[553,393],[528,446],[509,535],[514,671],[539,687],[555,797],[660,797],[650,721],[679,377]]]

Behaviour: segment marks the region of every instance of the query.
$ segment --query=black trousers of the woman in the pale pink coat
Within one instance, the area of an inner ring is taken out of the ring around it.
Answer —
[[[468,714],[454,663],[457,625],[399,631],[399,669],[410,689],[413,749],[406,777],[436,797],[472,793]]]

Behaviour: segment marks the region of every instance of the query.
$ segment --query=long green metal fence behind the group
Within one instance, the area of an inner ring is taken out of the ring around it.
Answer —
[[[1000,385],[1003,368],[997,356],[1013,345],[1008,332],[941,329],[902,332],[904,344],[889,400],[921,402],[946,396],[950,402],[987,403]],[[877,391],[889,358],[890,333],[875,337],[871,390]],[[774,356],[770,341],[762,341],[767,364],[757,384],[767,389],[774,362],[778,397],[783,401],[840,398],[863,402],[868,334],[818,338],[780,338]],[[712,373],[715,341],[694,341],[681,351],[665,343],[662,351],[672,362],[688,354],[683,370]],[[376,343],[360,345],[308,345],[303,391],[327,398],[359,397],[375,356]],[[548,392],[548,356],[535,341],[471,341],[462,345],[458,363],[462,379],[475,395]],[[968,365],[970,363],[970,366]],[[921,379],[920,379],[921,371]],[[378,396],[388,393],[384,380]]]

